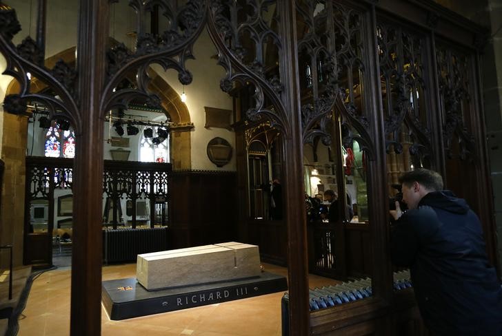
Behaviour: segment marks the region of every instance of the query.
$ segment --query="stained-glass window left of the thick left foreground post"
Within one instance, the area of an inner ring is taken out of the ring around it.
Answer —
[[[44,148],[45,156],[48,158],[74,158],[75,134],[73,130],[63,130],[58,123],[52,121],[46,133]]]

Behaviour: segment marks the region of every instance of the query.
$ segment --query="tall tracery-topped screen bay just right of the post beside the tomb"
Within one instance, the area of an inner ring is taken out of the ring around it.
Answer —
[[[372,273],[365,169],[374,156],[365,66],[369,12],[341,1],[297,1],[304,174],[306,183],[314,181],[306,192],[334,189],[343,214],[338,222],[308,218],[309,264],[312,273],[331,277]]]

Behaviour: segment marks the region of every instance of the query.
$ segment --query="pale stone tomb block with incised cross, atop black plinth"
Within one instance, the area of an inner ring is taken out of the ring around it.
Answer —
[[[239,242],[139,254],[136,277],[148,291],[259,277],[258,246]]]

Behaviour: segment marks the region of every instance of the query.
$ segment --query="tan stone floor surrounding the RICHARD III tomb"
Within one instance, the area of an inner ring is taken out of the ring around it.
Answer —
[[[264,264],[265,271],[287,275],[287,269]],[[26,308],[19,317],[20,336],[69,335],[70,268],[42,273],[34,280]],[[103,280],[134,277],[136,264],[103,266]],[[337,283],[311,275],[310,287]],[[101,335],[281,335],[283,292],[197,308],[112,321],[101,306]]]

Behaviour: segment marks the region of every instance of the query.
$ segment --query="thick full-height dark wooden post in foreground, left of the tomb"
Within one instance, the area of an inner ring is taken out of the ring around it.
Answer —
[[[79,116],[74,159],[74,240],[70,334],[101,335],[101,196],[103,120],[109,1],[80,1],[77,45]]]

